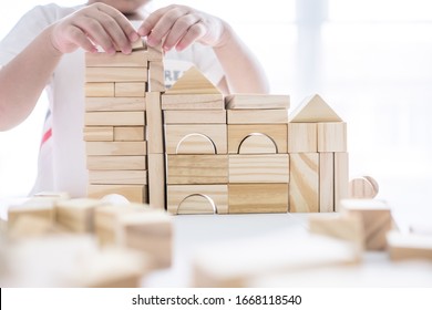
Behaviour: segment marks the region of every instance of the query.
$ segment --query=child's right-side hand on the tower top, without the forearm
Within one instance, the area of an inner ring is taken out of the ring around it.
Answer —
[[[163,42],[163,49],[184,50],[195,41],[218,46],[228,40],[227,24],[213,16],[184,6],[169,6],[153,12],[140,27],[151,46]]]

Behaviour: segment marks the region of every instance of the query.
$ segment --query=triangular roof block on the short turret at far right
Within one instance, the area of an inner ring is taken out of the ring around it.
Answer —
[[[289,115],[290,123],[342,122],[320,95],[306,97]]]

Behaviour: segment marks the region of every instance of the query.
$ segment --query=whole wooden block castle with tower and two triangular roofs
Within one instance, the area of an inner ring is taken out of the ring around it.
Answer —
[[[172,214],[318,213],[348,197],[347,125],[319,96],[224,96],[192,68],[164,87],[163,53],[86,55],[89,197]]]

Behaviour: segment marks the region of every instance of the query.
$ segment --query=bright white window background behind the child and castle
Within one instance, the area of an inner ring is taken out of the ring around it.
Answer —
[[[271,93],[291,95],[292,108],[321,94],[348,123],[351,175],[431,178],[432,1],[175,2],[230,22],[263,62]],[[0,38],[34,0],[9,6],[0,11]],[[0,197],[30,189],[44,111],[42,99],[23,124],[0,133]]]

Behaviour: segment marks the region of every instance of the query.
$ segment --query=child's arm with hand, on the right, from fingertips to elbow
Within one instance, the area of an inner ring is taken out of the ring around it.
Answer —
[[[250,50],[223,20],[184,6],[152,13],[138,29],[150,45],[184,50],[194,42],[213,46],[232,93],[267,93],[268,82]]]

